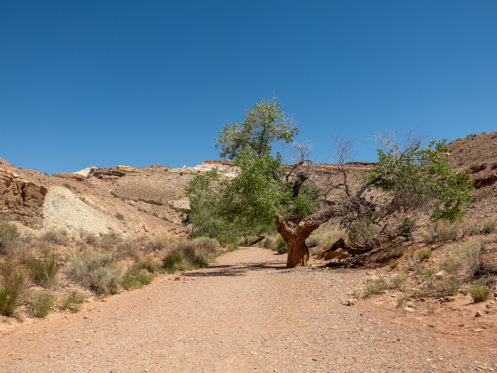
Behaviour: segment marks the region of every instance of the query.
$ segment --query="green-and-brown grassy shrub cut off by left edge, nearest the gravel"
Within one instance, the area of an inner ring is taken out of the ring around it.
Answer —
[[[27,290],[26,276],[10,261],[0,263],[0,314],[10,316]]]

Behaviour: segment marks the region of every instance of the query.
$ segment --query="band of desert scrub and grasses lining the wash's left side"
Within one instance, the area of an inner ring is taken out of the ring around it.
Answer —
[[[20,237],[15,224],[4,218],[0,233],[0,313],[12,315],[23,305],[33,317],[44,317],[52,309],[80,310],[85,296],[60,293],[69,283],[98,296],[116,294],[145,286],[159,274],[206,266],[238,248],[220,248],[208,237],[129,239],[112,230],[99,237],[83,230],[72,237],[62,230]],[[64,255],[58,253],[61,247]],[[46,290],[28,292],[32,285]]]

